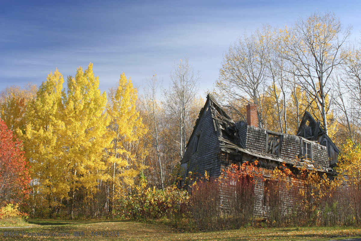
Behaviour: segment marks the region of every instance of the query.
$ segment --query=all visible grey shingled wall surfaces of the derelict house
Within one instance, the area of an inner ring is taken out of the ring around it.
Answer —
[[[213,113],[213,114],[212,114]],[[212,101],[208,100],[204,108],[201,110],[199,120],[195,129],[193,130],[192,137],[189,140],[187,149],[184,153],[182,159],[182,165],[185,166],[185,163],[188,163],[187,172],[198,172],[201,175],[204,175],[204,171],[210,171],[210,176],[219,177],[221,175],[222,169],[230,168],[229,155],[225,151],[220,149],[220,129],[221,128],[217,120],[213,119],[213,116],[216,116],[216,109],[213,107]],[[216,118],[216,117],[215,117]],[[242,140],[242,148],[248,149],[250,151],[265,153],[266,149],[266,135],[267,131],[262,128],[257,128],[255,126],[248,125],[244,121],[239,121],[235,123],[236,128],[238,129],[238,137]],[[281,134],[281,133],[280,133]],[[197,151],[194,152],[194,145],[197,135],[200,135],[199,144]],[[301,140],[302,138],[295,135],[283,135],[283,142],[280,151],[280,157],[287,158],[290,160],[295,160],[299,156],[301,151]],[[319,143],[312,142],[312,155],[313,160],[319,165],[327,167],[328,164],[328,155],[327,148],[319,145]],[[237,155],[242,155],[241,153]],[[255,156],[251,154],[243,154],[242,161],[251,161]],[[269,162],[265,159],[264,162]],[[275,161],[277,162],[277,161]],[[270,176],[272,170],[267,168],[261,168],[264,176]],[[290,178],[290,182],[294,182],[295,189],[287,190],[286,187],[282,187],[284,190],[282,193],[283,206],[285,210],[288,210],[294,202],[295,196],[298,194],[299,188],[302,187],[303,182]],[[221,195],[222,202],[227,200],[227,184],[222,181],[222,188],[219,190]],[[221,203],[222,205],[222,203]],[[255,183],[255,215],[265,216],[265,200],[264,200],[264,182],[261,180],[256,180]]]

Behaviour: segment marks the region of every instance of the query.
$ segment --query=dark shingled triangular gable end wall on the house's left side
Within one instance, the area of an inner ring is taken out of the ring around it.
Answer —
[[[198,172],[204,175],[204,171],[210,171],[211,176],[219,176],[221,171],[218,158],[219,141],[218,133],[214,129],[211,108],[209,102],[203,108],[182,163],[188,162],[188,172]],[[198,149],[193,152],[197,135],[200,135]]]

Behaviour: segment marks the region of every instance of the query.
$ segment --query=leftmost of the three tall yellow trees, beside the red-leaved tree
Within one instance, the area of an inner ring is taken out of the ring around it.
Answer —
[[[47,81],[39,87],[35,99],[28,104],[25,134],[17,129],[31,166],[33,195],[30,201],[37,209],[43,205],[49,208],[50,217],[53,208],[69,191],[63,183],[62,153],[57,143],[58,133],[63,128],[60,120],[63,83],[64,79],[57,69],[50,73]]]

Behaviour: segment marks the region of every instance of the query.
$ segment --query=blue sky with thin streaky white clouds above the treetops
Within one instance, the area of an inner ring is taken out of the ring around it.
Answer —
[[[237,36],[262,24],[290,26],[315,11],[335,12],[360,38],[361,1],[4,1],[0,0],[0,90],[40,85],[56,68],[66,78],[93,63],[100,89],[125,72],[135,86],[153,74],[165,85],[187,54],[200,94],[218,77]]]

